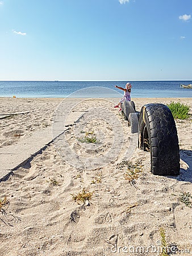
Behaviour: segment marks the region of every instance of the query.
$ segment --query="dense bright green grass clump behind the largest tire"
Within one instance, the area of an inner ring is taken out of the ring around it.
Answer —
[[[180,102],[171,102],[168,104],[168,108],[176,119],[187,119],[189,118],[189,106],[181,104]]]

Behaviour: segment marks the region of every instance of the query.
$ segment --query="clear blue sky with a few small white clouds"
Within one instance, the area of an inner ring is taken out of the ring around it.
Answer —
[[[0,80],[192,80],[191,0],[0,0]]]

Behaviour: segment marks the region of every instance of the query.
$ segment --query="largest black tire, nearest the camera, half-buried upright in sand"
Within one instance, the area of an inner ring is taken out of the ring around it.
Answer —
[[[147,104],[139,117],[139,148],[151,152],[151,172],[180,175],[180,148],[172,112],[164,104]]]

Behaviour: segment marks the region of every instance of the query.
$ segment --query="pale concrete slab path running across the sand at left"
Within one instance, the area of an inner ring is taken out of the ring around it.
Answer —
[[[68,130],[69,126],[73,125],[82,114],[84,113],[74,112],[65,123],[61,118],[53,127],[49,126],[36,131],[31,136],[20,139],[16,144],[0,148],[0,181],[46,148],[49,143],[53,142],[53,139]]]

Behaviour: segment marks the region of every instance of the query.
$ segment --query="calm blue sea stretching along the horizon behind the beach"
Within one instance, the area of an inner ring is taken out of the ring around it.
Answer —
[[[0,81],[0,97],[66,98],[66,97],[120,97],[128,81]],[[189,98],[192,89],[181,84],[192,81],[129,81],[132,98]]]

